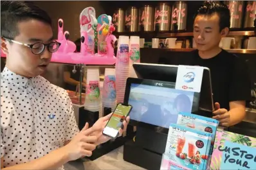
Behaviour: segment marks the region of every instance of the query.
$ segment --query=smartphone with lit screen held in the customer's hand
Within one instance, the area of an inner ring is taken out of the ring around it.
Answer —
[[[132,108],[133,106],[131,105],[118,103],[102,133],[109,137],[116,138],[119,133],[118,130],[123,124],[123,120],[130,114]]]

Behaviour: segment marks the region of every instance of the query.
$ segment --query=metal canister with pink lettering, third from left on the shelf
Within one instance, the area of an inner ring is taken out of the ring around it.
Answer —
[[[154,8],[150,5],[145,5],[140,8],[139,16],[139,31],[154,30]]]

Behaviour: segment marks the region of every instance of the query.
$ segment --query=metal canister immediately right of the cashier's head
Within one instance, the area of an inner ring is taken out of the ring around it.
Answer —
[[[224,1],[230,9],[230,28],[242,28],[244,1]]]

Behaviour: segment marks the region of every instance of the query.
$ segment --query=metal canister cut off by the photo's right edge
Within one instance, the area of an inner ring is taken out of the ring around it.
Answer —
[[[256,19],[256,1],[248,1],[244,17],[244,28],[253,28]]]

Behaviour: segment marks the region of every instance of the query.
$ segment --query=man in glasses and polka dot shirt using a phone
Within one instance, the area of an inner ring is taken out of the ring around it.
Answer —
[[[78,132],[66,90],[39,76],[60,45],[46,12],[28,2],[1,1],[1,169],[64,169],[109,140],[102,130],[111,115]]]

